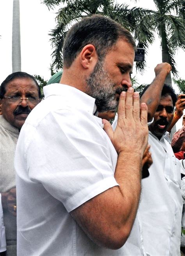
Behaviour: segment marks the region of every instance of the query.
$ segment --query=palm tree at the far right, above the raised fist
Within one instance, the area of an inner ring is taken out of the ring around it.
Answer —
[[[180,47],[185,49],[185,1],[184,0],[153,0],[157,11],[153,12],[153,28],[161,41],[162,62],[172,66],[172,73],[178,74],[174,55]],[[137,2],[137,1],[135,1]],[[165,81],[172,86],[171,74]]]

